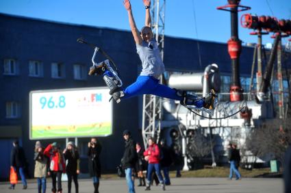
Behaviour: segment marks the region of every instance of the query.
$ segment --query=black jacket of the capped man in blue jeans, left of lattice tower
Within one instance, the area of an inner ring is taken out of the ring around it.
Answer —
[[[133,139],[125,141],[125,151],[123,153],[123,158],[121,164],[123,168],[134,168],[136,161],[138,160],[138,153],[136,153],[136,143]]]

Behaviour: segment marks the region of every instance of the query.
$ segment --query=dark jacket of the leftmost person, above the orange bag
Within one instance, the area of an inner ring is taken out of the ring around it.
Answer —
[[[10,154],[10,166],[14,167],[25,167],[26,158],[22,147],[16,145],[12,148]]]

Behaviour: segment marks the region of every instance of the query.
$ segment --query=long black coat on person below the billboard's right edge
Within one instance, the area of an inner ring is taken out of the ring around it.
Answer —
[[[92,176],[101,176],[101,163],[99,160],[102,146],[100,143],[93,147],[88,148],[88,158],[89,158],[89,173]]]

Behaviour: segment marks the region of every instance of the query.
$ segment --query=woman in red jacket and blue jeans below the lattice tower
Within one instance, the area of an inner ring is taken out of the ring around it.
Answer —
[[[145,190],[151,190],[151,173],[153,172],[153,168],[155,168],[155,173],[157,174],[160,184],[162,185],[162,190],[165,190],[164,179],[160,169],[160,149],[155,144],[155,140],[153,138],[149,138],[149,147],[146,151],[144,151],[144,160],[149,161],[149,165],[147,167],[147,188]]]

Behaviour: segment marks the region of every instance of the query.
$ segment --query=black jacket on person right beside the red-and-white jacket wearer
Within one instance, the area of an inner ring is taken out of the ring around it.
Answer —
[[[74,155],[73,151],[66,150],[64,153],[64,159],[68,160],[68,163],[66,164],[66,173],[75,175],[77,174],[77,168],[78,167],[78,160],[79,160],[79,153],[78,151],[74,150]]]

